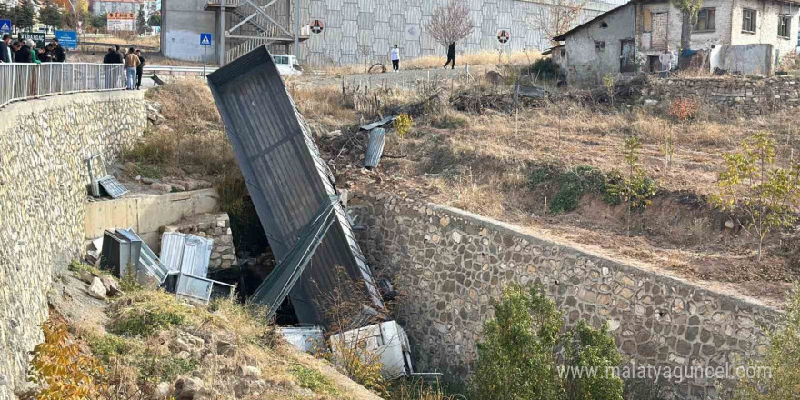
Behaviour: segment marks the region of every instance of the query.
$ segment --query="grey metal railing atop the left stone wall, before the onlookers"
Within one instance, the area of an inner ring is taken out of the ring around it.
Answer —
[[[123,88],[122,64],[0,64],[0,107],[45,95]]]

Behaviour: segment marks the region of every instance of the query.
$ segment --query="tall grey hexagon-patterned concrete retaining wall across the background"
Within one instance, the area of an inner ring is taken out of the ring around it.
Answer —
[[[266,4],[267,1],[257,0],[256,3]],[[287,25],[294,25],[295,1],[291,3],[287,6],[284,0],[279,0],[270,6],[269,13],[281,24],[289,21]],[[625,0],[590,1],[581,22],[623,3]],[[389,49],[394,44],[399,45],[401,58],[444,57],[446,49],[425,33],[425,23],[435,7],[446,4],[447,0],[302,0],[300,25],[309,25],[319,19],[325,29],[320,34],[311,34],[309,40],[301,45],[298,58],[308,65],[360,64],[363,55],[359,48],[366,46],[371,62],[387,62]],[[460,54],[494,51],[499,47],[496,37],[499,29],[511,32],[512,39],[505,45],[507,51],[545,50],[550,46],[545,35],[530,24],[534,13],[549,12],[553,6],[549,0],[468,0],[464,4],[471,10],[475,31],[458,44]],[[166,56],[196,61],[194,50],[186,51],[171,43],[172,38],[175,42],[185,38],[185,43],[194,44],[199,41],[200,32],[216,32],[215,12],[202,11],[203,5],[205,0],[165,0],[163,43]],[[231,17],[226,20],[230,21]],[[230,47],[232,44],[226,45]],[[278,53],[286,51],[284,45],[272,50]],[[199,54],[202,56],[202,49]],[[442,61],[444,63],[444,59]]]

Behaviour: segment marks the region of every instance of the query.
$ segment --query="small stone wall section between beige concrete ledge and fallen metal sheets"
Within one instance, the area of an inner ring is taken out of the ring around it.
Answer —
[[[180,232],[213,239],[214,248],[208,263],[211,269],[225,269],[238,265],[234,236],[231,235],[231,218],[227,213],[193,215],[173,225],[164,226],[162,232]]]

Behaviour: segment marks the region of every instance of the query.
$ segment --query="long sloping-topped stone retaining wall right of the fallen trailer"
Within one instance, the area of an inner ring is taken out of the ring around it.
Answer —
[[[395,314],[420,372],[468,375],[490,301],[512,282],[545,285],[569,324],[608,321],[636,365],[741,365],[765,353],[762,327],[780,319],[775,309],[454,208],[378,193],[356,195],[349,209],[366,225],[357,232],[365,255],[401,295]],[[672,387],[681,398],[716,394],[705,379]]]

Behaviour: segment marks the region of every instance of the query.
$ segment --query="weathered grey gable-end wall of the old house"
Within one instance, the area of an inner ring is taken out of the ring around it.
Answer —
[[[605,74],[620,71],[622,41],[635,38],[635,10],[635,6],[622,7],[566,38],[570,83],[600,83]]]

